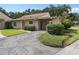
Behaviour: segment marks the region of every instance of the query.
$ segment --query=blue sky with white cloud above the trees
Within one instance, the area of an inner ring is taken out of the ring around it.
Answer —
[[[54,4],[55,5],[55,4]],[[43,9],[49,6],[49,4],[0,4],[0,7],[4,8],[7,12],[13,11],[24,11],[26,9]],[[72,7],[71,12],[79,13],[79,4],[70,4]]]

